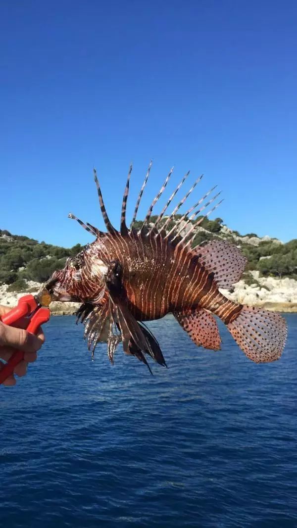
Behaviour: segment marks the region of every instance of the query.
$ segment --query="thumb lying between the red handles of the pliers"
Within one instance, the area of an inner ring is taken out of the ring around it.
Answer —
[[[11,346],[22,352],[36,352],[42,344],[42,340],[34,334],[0,323],[0,345]]]

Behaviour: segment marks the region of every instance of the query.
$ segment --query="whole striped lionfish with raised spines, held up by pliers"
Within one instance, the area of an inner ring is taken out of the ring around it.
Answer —
[[[225,323],[250,360],[265,363],[279,359],[286,341],[283,317],[262,308],[237,304],[220,292],[219,288],[229,289],[238,282],[245,269],[246,258],[240,250],[226,240],[211,240],[191,247],[197,234],[197,225],[220,203],[194,221],[202,210],[217,199],[220,193],[208,198],[215,187],[185,214],[175,217],[201,180],[202,176],[199,176],[173,212],[165,215],[189,175],[187,173],[156,220],[150,222],[152,210],[172,174],[171,169],[150,205],[141,228],[135,229],[134,223],[151,165],[137,198],[131,227],[128,228],[126,204],[132,171],[130,166],[119,231],[109,221],[94,169],[107,232],[101,232],[69,214],[96,239],[75,258],[68,258],[65,267],[55,271],[48,282],[54,299],[82,303],[78,309],[77,322],[80,320],[85,327],[84,336],[92,357],[97,344],[106,342],[108,357],[113,363],[116,347],[122,342],[124,352],[136,356],[149,369],[146,354],[166,366],[159,343],[144,322],[172,313],[197,346],[220,350],[221,338],[215,315]],[[207,198],[208,202],[201,206]],[[197,207],[199,209],[192,213]],[[189,224],[190,228],[185,229]]]

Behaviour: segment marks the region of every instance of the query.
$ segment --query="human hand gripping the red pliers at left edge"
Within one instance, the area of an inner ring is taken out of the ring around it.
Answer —
[[[11,308],[0,305],[0,317]],[[18,363],[13,374],[8,376],[3,385],[15,385],[15,376],[24,376],[27,371],[27,363],[32,363],[37,358],[36,352],[43,345],[45,338],[41,328],[37,335],[30,334],[24,330],[26,325],[25,319],[18,321],[17,328],[7,326],[0,321],[0,371],[4,366],[1,360],[8,361],[16,350],[24,352],[24,360]]]

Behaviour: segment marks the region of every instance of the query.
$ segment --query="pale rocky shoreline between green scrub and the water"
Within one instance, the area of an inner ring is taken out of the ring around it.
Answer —
[[[240,304],[261,306],[273,312],[297,313],[297,281],[284,278],[260,277],[258,271],[251,271],[254,282],[247,285],[240,280],[233,290],[221,290],[226,297]],[[0,304],[15,306],[17,300],[26,295],[36,294],[41,288],[39,282],[28,281],[27,291],[22,293],[7,291],[8,286],[0,286]],[[73,315],[80,306],[79,303],[53,302],[51,304],[52,315]]]

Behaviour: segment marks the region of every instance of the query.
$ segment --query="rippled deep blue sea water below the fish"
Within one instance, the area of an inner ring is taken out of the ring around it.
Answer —
[[[255,365],[224,327],[204,351],[171,318],[150,324],[154,376],[52,317],[15,388],[0,387],[1,528],[295,528],[297,316],[282,359]]]

